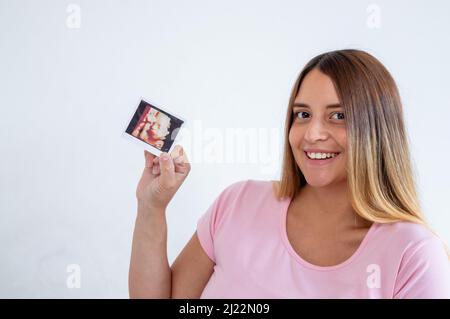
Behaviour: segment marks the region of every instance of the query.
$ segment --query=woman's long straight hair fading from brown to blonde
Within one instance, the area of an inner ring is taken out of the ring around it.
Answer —
[[[305,76],[318,69],[331,78],[344,108],[347,183],[353,209],[378,223],[425,224],[411,169],[407,133],[397,86],[389,71],[360,50],[320,54],[300,72],[289,99],[281,180],[277,197],[292,198],[306,185],[289,144],[292,105]]]

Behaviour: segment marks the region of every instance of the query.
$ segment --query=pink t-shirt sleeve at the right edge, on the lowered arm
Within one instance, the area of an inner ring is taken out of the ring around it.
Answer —
[[[425,239],[405,252],[394,298],[450,298],[450,263],[437,237]]]

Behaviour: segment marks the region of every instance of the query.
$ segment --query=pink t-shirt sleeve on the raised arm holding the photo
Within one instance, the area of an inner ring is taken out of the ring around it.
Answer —
[[[198,240],[205,253],[214,263],[216,263],[214,237],[225,211],[227,209],[232,209],[231,201],[234,198],[233,195],[236,194],[239,185],[242,185],[242,182],[236,182],[226,187],[197,222]]]

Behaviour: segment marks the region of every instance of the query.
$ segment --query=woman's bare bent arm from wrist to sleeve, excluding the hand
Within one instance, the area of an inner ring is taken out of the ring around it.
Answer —
[[[214,271],[195,232],[169,268],[165,213],[138,213],[129,273],[131,298],[200,298]]]

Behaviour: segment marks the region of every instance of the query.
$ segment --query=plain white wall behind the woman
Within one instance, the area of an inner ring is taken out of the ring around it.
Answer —
[[[333,49],[367,50],[397,80],[421,200],[449,243],[449,12],[447,1],[0,0],[0,297],[128,297],[144,158],[120,133],[140,96],[192,133],[192,171],[168,209],[172,262],[225,186],[277,178],[293,81]],[[226,128],[261,131],[255,163],[206,158]],[[69,264],[80,288],[66,285]]]

